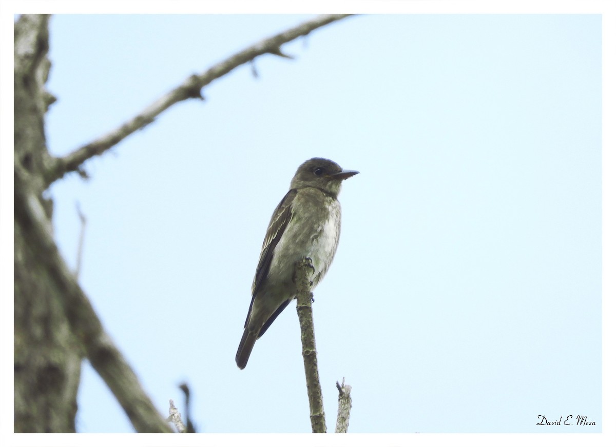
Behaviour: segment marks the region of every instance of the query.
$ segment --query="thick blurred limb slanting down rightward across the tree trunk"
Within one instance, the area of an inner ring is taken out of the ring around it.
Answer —
[[[139,380],[120,351],[105,333],[87,296],[76,282],[55,245],[51,223],[31,189],[30,175],[15,160],[15,221],[25,229],[30,250],[37,253],[49,280],[59,291],[59,306],[71,332],[80,342],[88,360],[126,411],[137,432],[171,432],[171,427],[156,411],[142,390]]]

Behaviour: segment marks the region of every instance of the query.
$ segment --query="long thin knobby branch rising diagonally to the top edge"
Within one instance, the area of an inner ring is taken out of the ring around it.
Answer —
[[[280,45],[293,41],[300,36],[306,36],[317,28],[328,25],[331,22],[336,22],[336,20],[346,18],[349,15],[352,14],[319,15],[318,17],[291,28],[290,30],[276,34],[269,39],[264,39],[261,42],[257,42],[257,44],[249,46],[245,50],[232,55],[220,63],[217,63],[204,73],[193,74],[178,87],[154,101],[151,105],[147,106],[144,110],[132,117],[132,119],[129,119],[129,121],[125,122],[117,129],[112,130],[107,133],[107,135],[103,135],[85,146],[81,146],[81,148],[76,149],[67,156],[55,157],[52,159],[49,163],[49,167],[47,168],[47,172],[45,173],[46,185],[49,186],[54,183],[54,181],[62,178],[68,172],[79,172],[81,175],[84,175],[81,165],[87,159],[101,155],[103,152],[107,151],[107,149],[110,149],[115,146],[115,144],[118,144],[126,138],[126,136],[131,135],[131,133],[136,132],[136,130],[142,129],[146,125],[150,124],[159,114],[163,113],[163,111],[172,105],[179,103],[180,101],[187,100],[188,98],[203,99],[201,96],[201,89],[203,89],[203,87],[208,85],[210,82],[214,81],[214,79],[218,79],[238,66],[250,62],[254,60],[254,58],[267,53],[280,57],[291,58],[282,52]]]

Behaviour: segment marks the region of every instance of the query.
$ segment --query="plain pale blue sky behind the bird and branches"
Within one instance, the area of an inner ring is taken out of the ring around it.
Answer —
[[[57,15],[49,149],[66,154],[301,15]],[[201,432],[308,432],[294,307],[234,362],[269,217],[297,166],[344,182],[315,290],[328,428],[600,432],[601,16],[373,15],[243,66],[55,184],[80,282],[166,414]],[[586,415],[591,427],[538,427]],[[127,432],[84,367],[79,432]]]

